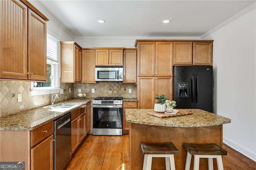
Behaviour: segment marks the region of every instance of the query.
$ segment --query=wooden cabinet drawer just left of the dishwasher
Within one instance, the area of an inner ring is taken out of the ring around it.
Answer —
[[[33,131],[30,131],[30,146],[34,146],[51,134],[53,134],[53,121]]]

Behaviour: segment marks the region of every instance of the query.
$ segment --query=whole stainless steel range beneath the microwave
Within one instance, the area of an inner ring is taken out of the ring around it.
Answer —
[[[122,97],[96,97],[93,107],[93,135],[122,135]]]

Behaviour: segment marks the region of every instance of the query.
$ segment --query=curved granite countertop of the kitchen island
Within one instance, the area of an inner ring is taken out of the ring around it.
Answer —
[[[177,109],[178,110],[178,109]],[[182,109],[192,111],[192,115],[159,118],[148,115],[154,109],[126,109],[126,121],[130,123],[165,127],[209,127],[230,123],[231,119],[215,115],[201,109]]]

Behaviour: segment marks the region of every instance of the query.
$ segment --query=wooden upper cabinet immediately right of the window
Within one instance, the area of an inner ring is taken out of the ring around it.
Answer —
[[[61,82],[74,83],[82,81],[81,56],[82,47],[76,42],[60,42]]]

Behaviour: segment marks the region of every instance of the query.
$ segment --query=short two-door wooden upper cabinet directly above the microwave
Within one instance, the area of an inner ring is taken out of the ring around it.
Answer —
[[[95,47],[95,65],[123,65],[124,48]]]

